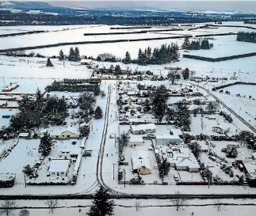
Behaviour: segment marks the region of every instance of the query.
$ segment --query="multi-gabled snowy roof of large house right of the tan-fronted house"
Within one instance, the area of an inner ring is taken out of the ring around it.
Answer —
[[[180,148],[181,152],[174,151],[174,157],[167,157],[170,163],[174,163],[179,167],[188,167],[189,169],[199,169],[196,157],[188,148]]]

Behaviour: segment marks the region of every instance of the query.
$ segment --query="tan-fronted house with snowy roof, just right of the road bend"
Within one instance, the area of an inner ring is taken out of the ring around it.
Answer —
[[[132,171],[142,175],[151,174],[151,162],[147,151],[132,152]]]

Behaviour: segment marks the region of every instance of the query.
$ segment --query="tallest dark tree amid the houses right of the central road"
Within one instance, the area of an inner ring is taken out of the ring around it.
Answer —
[[[159,123],[162,122],[162,118],[166,114],[166,101],[168,97],[169,94],[166,85],[160,85],[151,95],[152,111],[155,117],[159,119]]]

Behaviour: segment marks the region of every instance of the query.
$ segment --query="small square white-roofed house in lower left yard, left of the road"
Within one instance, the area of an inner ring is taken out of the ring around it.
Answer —
[[[48,172],[51,176],[67,176],[70,160],[66,159],[53,159],[50,162]]]

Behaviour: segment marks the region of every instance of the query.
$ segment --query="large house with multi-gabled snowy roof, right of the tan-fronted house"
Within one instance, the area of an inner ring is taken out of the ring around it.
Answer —
[[[200,165],[189,148],[179,148],[178,151],[173,151],[173,154],[166,158],[170,162],[170,167],[177,170],[199,172]]]

